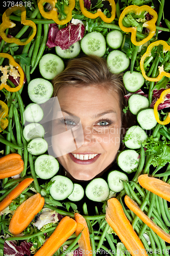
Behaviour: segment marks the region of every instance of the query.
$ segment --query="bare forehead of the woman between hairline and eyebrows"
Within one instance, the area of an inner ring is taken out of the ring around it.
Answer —
[[[81,111],[107,111],[121,112],[119,95],[105,87],[63,87],[57,93],[61,109]],[[73,112],[74,113],[74,112]]]

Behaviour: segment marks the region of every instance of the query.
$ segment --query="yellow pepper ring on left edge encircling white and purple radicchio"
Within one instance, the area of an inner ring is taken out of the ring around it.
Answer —
[[[23,80],[24,80],[24,76],[25,76],[24,72],[23,72],[22,68],[19,66],[19,64],[17,62],[15,62],[15,59],[10,54],[0,53],[0,58],[1,57],[9,59],[9,64],[12,65],[13,67],[15,67],[18,70],[19,75],[20,75],[20,79],[19,79],[19,85],[16,88],[11,88],[10,86],[8,86],[7,83],[1,83],[0,84],[0,90],[5,88],[9,92],[17,92],[23,86]]]

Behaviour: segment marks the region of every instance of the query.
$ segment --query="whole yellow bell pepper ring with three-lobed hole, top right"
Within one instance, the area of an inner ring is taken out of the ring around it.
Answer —
[[[136,27],[130,27],[127,28],[125,26],[123,26],[122,22],[123,22],[123,18],[130,12],[134,12],[136,15],[140,15],[143,11],[146,11],[148,13],[150,13],[152,15],[152,19],[151,20],[147,20],[147,22],[143,23],[143,27],[149,29],[149,35],[147,37],[145,37],[144,39],[142,39],[141,41],[136,41]],[[156,13],[156,11],[154,11],[150,6],[148,5],[142,5],[142,6],[137,6],[137,5],[130,5],[128,7],[126,7],[123,12],[120,14],[118,23],[119,23],[119,27],[120,29],[122,29],[124,32],[131,32],[131,41],[135,46],[141,46],[143,45],[145,42],[148,42],[155,34],[156,32],[156,20],[158,18],[158,15]]]

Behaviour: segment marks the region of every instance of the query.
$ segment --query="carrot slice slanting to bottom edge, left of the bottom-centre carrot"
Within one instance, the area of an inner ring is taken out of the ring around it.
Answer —
[[[35,256],[52,256],[62,244],[76,231],[77,223],[68,216],[64,217]]]

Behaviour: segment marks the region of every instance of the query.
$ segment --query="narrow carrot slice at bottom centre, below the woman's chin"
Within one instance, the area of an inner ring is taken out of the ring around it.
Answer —
[[[90,256],[92,254],[92,250],[86,220],[82,215],[76,212],[75,221],[77,222],[76,236],[78,236],[80,232],[82,232],[82,235],[78,241],[79,247],[83,250],[83,256]]]

